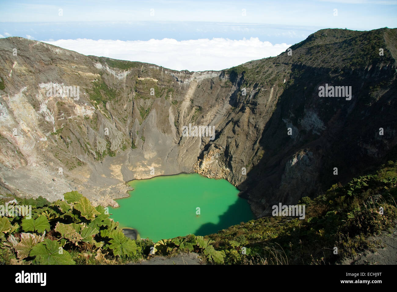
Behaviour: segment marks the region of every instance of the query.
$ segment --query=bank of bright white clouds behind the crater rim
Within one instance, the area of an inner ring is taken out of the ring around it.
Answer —
[[[173,70],[222,70],[270,56],[277,56],[291,44],[271,44],[258,38],[223,38],[177,41],[114,41],[91,39],[43,41],[85,55],[156,64]]]

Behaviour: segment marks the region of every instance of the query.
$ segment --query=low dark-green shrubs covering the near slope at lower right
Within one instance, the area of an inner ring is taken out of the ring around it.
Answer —
[[[335,263],[371,248],[368,236],[395,226],[396,182],[397,162],[389,161],[376,174],[334,185],[313,200],[304,197],[303,220],[264,217],[206,237],[215,241],[217,250],[225,251],[225,263]],[[241,254],[242,246],[247,248],[246,256]],[[338,254],[333,254],[334,247]]]

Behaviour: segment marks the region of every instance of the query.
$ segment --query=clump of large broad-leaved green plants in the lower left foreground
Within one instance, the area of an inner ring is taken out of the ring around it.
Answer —
[[[64,198],[54,203],[22,199],[32,205],[30,219],[0,218],[0,240],[16,254],[15,261],[75,264],[83,253],[110,263],[141,252],[135,240],[125,237],[118,222],[109,217],[107,208],[94,207],[77,191],[65,193]]]

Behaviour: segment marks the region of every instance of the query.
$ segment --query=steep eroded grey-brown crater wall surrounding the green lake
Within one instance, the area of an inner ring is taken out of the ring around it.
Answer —
[[[395,43],[396,29],[322,30],[278,57],[179,72],[0,39],[1,192],[78,190],[116,205],[126,181],[198,172],[229,180],[267,215],[395,149]],[[49,94],[54,83],[79,97]],[[351,100],[319,97],[326,83],[352,86]],[[214,139],[186,137],[189,124],[213,126]]]

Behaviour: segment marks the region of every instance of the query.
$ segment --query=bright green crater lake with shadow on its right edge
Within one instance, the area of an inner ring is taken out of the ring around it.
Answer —
[[[154,242],[211,234],[254,219],[247,200],[227,180],[194,173],[133,180],[129,185],[134,190],[117,200],[120,207],[110,208],[111,218]]]

